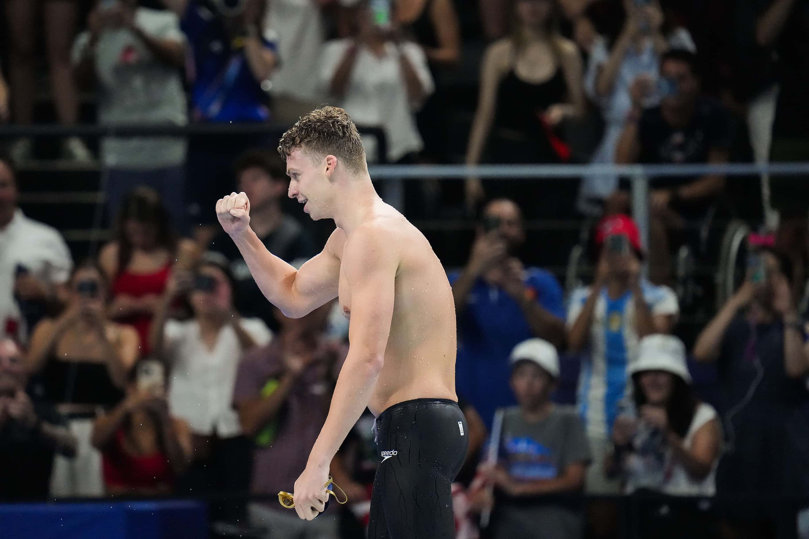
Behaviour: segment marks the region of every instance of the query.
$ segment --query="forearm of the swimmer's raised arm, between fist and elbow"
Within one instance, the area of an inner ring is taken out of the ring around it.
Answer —
[[[284,314],[292,310],[293,284],[297,270],[267,250],[251,228],[239,235],[231,236],[247,263],[253,279],[261,293],[282,310]]]

